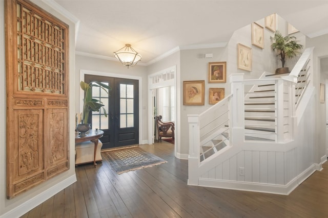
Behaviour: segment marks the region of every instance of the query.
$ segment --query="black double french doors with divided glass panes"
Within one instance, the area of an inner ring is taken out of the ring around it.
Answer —
[[[138,80],[85,75],[85,82],[106,83],[112,90],[107,94],[100,87],[92,88],[94,99],[105,106],[104,111],[93,111],[89,117],[92,129],[101,129],[104,136],[102,149],[130,146],[139,143],[139,87]]]

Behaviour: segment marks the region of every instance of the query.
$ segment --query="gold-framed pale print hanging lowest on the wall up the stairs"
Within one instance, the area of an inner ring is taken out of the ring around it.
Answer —
[[[252,49],[240,43],[237,44],[237,68],[252,71]]]

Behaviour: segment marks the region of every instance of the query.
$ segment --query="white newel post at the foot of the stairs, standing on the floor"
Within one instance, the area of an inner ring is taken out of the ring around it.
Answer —
[[[198,185],[198,165],[200,154],[200,125],[199,115],[187,115],[189,123],[189,157],[188,184]]]

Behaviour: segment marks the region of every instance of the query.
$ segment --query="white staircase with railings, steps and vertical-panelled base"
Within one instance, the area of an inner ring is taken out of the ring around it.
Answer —
[[[310,137],[298,124],[313,116],[306,103],[314,95],[312,56],[313,48],[306,49],[285,75],[264,72],[258,80],[244,80],[233,74],[227,98],[188,115],[188,184],[288,194],[314,170],[297,164]]]

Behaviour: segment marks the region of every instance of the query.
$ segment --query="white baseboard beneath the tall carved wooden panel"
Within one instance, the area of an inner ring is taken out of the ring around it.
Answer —
[[[39,193],[39,195],[34,196],[30,200],[24,202],[21,205],[18,205],[14,209],[8,211],[7,213],[0,216],[0,218],[12,218],[12,217],[20,217],[36,207],[37,205],[43,203],[50,197],[56,195],[59,191],[63,190],[67,186],[73,184],[76,182],[76,176],[75,174],[68,177],[67,179],[57,183],[56,185],[52,186],[51,188],[45,190],[42,193]]]

